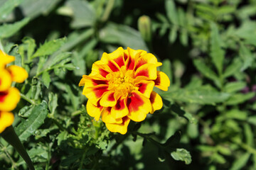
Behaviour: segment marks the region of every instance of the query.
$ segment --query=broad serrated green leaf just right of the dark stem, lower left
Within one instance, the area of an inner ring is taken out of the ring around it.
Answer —
[[[33,108],[31,115],[26,120],[23,120],[15,131],[21,141],[25,141],[28,137],[43,125],[45,118],[48,115],[48,106],[46,101],[42,101],[41,104]]]

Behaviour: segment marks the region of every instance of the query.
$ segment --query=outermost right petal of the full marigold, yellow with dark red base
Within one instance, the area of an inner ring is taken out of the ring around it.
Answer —
[[[168,91],[170,79],[164,72],[157,71],[157,78],[154,80],[155,86],[163,91]]]

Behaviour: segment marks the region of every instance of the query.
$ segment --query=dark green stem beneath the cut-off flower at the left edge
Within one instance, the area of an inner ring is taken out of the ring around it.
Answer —
[[[31,158],[28,156],[26,149],[23,147],[21,140],[18,139],[18,136],[14,131],[14,127],[12,125],[9,126],[0,135],[1,137],[4,138],[4,140],[6,140],[6,142],[9,142],[9,144],[12,145],[17,150],[18,154],[21,155],[21,157],[24,159],[24,161],[28,165],[28,169],[34,170],[35,168],[33,166]]]

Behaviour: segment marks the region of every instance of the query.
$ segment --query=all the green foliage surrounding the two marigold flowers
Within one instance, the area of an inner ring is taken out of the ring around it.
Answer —
[[[14,129],[36,169],[256,169],[255,1],[0,4],[0,49],[29,73],[13,84]],[[78,86],[119,46],[153,53],[171,80],[168,91],[154,89],[164,107],[126,135],[87,115]],[[0,169],[27,169],[1,138]]]

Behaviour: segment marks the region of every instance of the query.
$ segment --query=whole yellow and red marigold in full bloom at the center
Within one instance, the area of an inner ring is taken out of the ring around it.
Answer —
[[[154,86],[167,91],[170,80],[156,57],[144,50],[124,50],[103,53],[101,60],[92,64],[89,76],[83,75],[79,86],[87,98],[87,113],[106,124],[111,132],[125,134],[130,120],[141,122],[148,113],[163,106]]]

